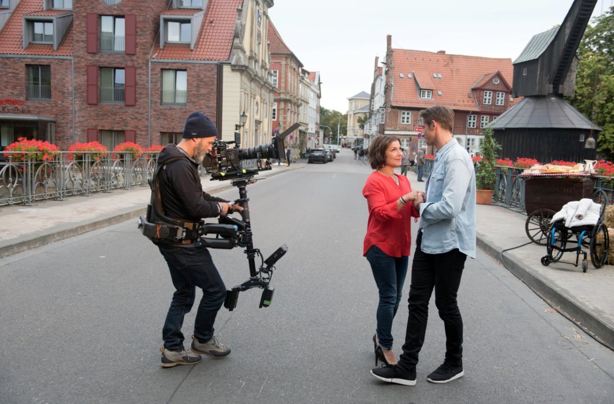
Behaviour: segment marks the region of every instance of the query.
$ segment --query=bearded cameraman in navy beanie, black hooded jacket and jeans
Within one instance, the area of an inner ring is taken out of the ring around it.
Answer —
[[[193,112],[185,122],[181,142],[176,146],[167,145],[160,152],[158,181],[166,216],[196,223],[201,218],[214,218],[243,210],[239,205],[203,192],[198,165],[205,154],[211,151],[216,137],[217,128],[208,116],[202,112]],[[168,264],[176,289],[162,329],[164,346],[160,346],[161,365],[173,367],[197,364],[201,360],[199,354],[227,356],[230,348],[219,343],[213,335],[213,324],[226,297],[226,287],[211,260],[211,254],[198,240],[157,245]],[[193,353],[190,353],[185,350],[181,326],[185,314],[192,309],[196,286],[203,289],[203,298],[194,321]]]

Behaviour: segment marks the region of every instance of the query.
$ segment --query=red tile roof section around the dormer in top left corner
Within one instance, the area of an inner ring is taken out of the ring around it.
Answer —
[[[23,48],[23,15],[48,15],[41,11],[41,0],[21,0],[9,20],[0,31],[0,54],[4,55],[41,55],[41,56],[72,56],[72,25],[64,34],[58,50],[53,45],[30,44]],[[49,10],[53,14],[66,13],[66,10]]]

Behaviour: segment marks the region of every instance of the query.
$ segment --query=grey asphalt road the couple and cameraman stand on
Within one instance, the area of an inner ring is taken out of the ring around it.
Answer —
[[[362,257],[369,173],[343,150],[332,163],[247,188],[254,245],[265,257],[284,243],[289,251],[271,307],[258,308],[259,289],[241,292],[216,322],[232,353],[193,367],[160,367],[173,287],[136,221],[0,259],[0,403],[614,402],[614,353],[481,251],[459,291],[465,376],[426,381],[445,349],[432,302],[417,385],[373,378],[378,297]],[[243,250],[212,255],[227,286],[247,280]],[[188,336],[194,316],[185,319]],[[405,324],[403,300],[397,353]]]

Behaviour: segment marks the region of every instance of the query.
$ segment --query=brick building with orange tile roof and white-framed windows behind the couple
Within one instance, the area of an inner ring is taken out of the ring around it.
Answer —
[[[511,59],[394,49],[391,36],[386,48],[383,104],[372,102],[370,121],[378,124],[378,134],[400,137],[411,155],[423,142],[422,109],[437,104],[453,109],[453,135],[475,155],[480,153],[483,128],[519,101],[510,95]],[[382,83],[378,73],[376,66],[374,80]],[[372,87],[380,85],[374,81]]]

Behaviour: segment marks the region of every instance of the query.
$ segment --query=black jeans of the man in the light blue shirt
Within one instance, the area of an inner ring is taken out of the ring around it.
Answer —
[[[435,288],[435,305],[446,330],[446,361],[462,364],[462,317],[456,303],[462,270],[467,256],[457,248],[443,254],[422,252],[422,233],[416,238],[416,251],[411,268],[409,317],[403,354],[398,364],[408,370],[418,364],[429,318],[430,295]]]

